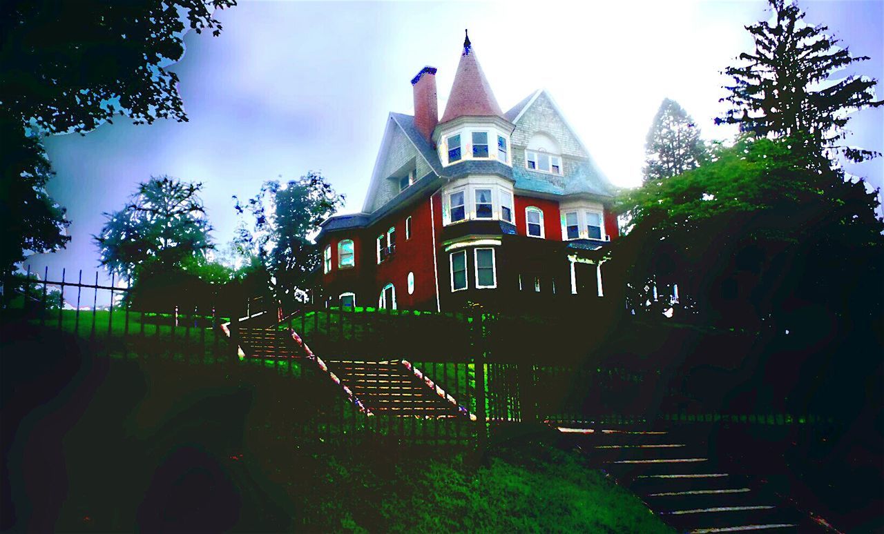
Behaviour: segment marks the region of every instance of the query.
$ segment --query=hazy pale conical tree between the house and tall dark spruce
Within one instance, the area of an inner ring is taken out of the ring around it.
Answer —
[[[674,177],[702,162],[705,147],[694,120],[678,105],[663,99],[644,144],[644,181]]]

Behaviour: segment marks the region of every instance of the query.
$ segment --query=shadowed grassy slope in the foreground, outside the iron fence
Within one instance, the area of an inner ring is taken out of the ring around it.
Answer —
[[[549,440],[479,453],[306,434],[340,399],[331,384],[45,334],[0,346],[4,530],[669,531]]]

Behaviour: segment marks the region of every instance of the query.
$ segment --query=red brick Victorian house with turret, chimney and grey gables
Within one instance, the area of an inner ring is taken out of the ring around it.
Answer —
[[[543,90],[504,112],[469,38],[442,117],[436,69],[391,113],[362,213],[317,237],[317,302],[450,311],[602,296],[611,184]]]

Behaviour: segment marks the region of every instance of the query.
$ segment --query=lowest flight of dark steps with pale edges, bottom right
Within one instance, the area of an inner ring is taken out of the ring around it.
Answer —
[[[773,493],[750,466],[724,467],[696,434],[606,426],[560,432],[680,532],[837,531]]]

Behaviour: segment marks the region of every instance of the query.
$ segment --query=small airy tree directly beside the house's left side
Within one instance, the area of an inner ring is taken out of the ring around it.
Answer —
[[[309,277],[320,264],[313,238],[319,224],[344,205],[344,196],[311,170],[285,187],[276,180],[265,182],[246,202],[233,199],[237,214],[251,218],[250,224],[240,219],[237,227],[234,244],[240,254],[257,259],[273,276],[278,299],[307,290]]]

